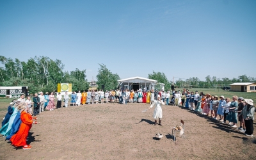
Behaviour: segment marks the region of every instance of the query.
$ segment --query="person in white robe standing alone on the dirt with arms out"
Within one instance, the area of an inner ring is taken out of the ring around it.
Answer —
[[[154,110],[154,114],[153,114],[153,117],[155,119],[155,124],[154,125],[157,125],[157,118],[159,118],[159,125],[162,125],[161,124],[161,120],[162,120],[162,105],[164,105],[164,102],[163,100],[161,100],[161,97],[160,95],[157,95],[157,100],[154,100],[153,104],[151,104],[151,106],[148,108],[152,108],[153,106],[156,106],[155,110]]]

